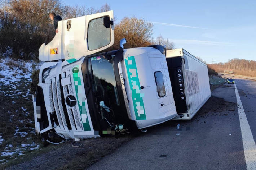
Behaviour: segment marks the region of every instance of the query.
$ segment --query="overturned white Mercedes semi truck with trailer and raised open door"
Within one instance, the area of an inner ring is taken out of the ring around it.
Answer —
[[[59,21],[39,49],[45,62],[33,95],[36,132],[46,141],[85,139],[191,119],[211,96],[207,65],[163,46],[96,54],[114,44],[113,11]]]

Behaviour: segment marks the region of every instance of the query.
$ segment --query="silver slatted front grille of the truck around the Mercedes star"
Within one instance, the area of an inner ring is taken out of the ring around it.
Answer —
[[[50,107],[52,111],[56,112],[62,130],[83,130],[80,126],[76,107],[69,108],[65,105],[65,97],[69,94],[74,95],[73,86],[72,83],[62,85],[61,79],[70,79],[70,77],[70,71],[68,70],[52,78],[52,85],[49,87]]]

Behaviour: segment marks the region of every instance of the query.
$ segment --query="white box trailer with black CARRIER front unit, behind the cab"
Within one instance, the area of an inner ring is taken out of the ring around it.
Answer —
[[[211,97],[207,65],[184,49],[167,50],[166,57],[179,119],[191,119]]]

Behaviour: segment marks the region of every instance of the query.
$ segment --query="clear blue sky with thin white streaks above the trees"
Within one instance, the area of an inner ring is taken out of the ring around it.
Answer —
[[[241,58],[256,61],[256,1],[64,0],[67,5],[100,8],[108,3],[117,22],[135,16],[153,22],[161,34],[207,63]]]

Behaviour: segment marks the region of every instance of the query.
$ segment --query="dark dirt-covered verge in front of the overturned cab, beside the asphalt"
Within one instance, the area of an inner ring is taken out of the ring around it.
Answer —
[[[23,160],[22,163],[6,169],[85,169],[132,138],[133,135],[129,134],[120,136],[118,139],[114,136],[87,139],[80,141],[82,144],[80,147],[72,147],[72,140],[61,143],[58,146],[49,144],[53,147],[47,153],[35,156],[30,160]]]

